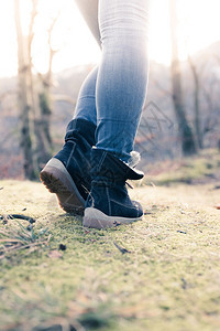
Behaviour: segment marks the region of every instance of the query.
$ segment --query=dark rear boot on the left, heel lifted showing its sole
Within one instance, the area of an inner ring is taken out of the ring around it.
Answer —
[[[65,145],[41,171],[40,179],[56,193],[59,205],[68,213],[82,214],[90,191],[90,152],[96,126],[73,119],[67,126]]]

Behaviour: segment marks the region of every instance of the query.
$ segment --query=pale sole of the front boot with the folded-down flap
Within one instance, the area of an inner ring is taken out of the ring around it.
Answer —
[[[140,220],[142,220],[142,217],[129,218],[108,216],[97,209],[88,207],[85,210],[82,225],[86,227],[101,229],[107,227],[116,227],[121,224],[130,224]]]

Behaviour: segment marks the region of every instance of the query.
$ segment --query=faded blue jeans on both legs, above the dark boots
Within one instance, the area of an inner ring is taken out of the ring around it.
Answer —
[[[74,118],[96,124],[96,147],[128,162],[146,95],[148,0],[76,2],[102,58],[81,86]],[[97,17],[89,15],[95,3]]]

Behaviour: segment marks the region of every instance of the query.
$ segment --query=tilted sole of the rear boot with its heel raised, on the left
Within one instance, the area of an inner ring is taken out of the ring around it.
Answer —
[[[85,200],[64,164],[51,159],[40,173],[40,179],[51,193],[55,193],[61,207],[67,213],[82,215]]]

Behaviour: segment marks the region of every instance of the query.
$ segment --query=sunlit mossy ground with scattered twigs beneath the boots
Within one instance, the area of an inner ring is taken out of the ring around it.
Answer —
[[[0,214],[36,220],[0,220],[0,330],[220,330],[218,184],[135,188],[143,221],[88,231],[42,184],[0,182]]]

